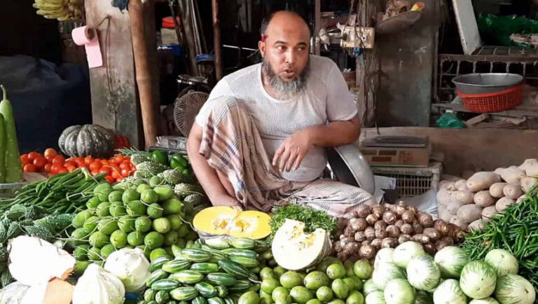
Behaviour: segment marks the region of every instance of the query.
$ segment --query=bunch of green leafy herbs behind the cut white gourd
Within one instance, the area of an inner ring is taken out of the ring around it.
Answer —
[[[275,207],[275,214],[271,216],[271,237],[277,233],[286,219],[294,219],[305,223],[305,231],[313,232],[317,228],[324,229],[330,235],[333,235],[336,229],[336,219],[331,218],[326,212],[315,210],[299,205],[287,205],[284,207]]]

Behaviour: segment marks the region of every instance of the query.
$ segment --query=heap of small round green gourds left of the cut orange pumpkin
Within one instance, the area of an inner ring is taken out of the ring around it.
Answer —
[[[171,246],[184,247],[198,235],[184,218],[192,219],[193,205],[181,202],[171,186],[146,184],[143,179],[97,186],[86,209],[72,221],[71,242],[81,265],[99,262],[124,247],[139,247],[147,258],[172,254]]]

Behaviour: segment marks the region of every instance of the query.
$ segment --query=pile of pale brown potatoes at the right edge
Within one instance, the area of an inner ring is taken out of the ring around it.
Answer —
[[[441,181],[437,202],[439,218],[462,229],[483,229],[497,212],[517,204],[538,184],[538,160],[527,159],[519,167],[476,172],[469,179]]]

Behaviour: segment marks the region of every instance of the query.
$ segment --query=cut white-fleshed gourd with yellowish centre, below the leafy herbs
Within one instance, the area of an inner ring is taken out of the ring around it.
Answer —
[[[331,252],[329,235],[322,228],[305,233],[305,223],[286,219],[275,233],[271,247],[277,264],[287,270],[303,270]]]

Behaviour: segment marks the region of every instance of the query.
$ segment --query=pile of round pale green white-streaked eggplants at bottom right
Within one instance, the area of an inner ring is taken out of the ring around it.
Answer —
[[[470,261],[459,247],[432,257],[417,242],[405,242],[378,252],[363,292],[366,304],[534,303],[532,284],[517,273],[517,259],[503,249],[488,252],[485,261]]]

